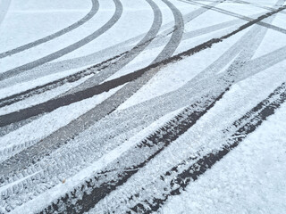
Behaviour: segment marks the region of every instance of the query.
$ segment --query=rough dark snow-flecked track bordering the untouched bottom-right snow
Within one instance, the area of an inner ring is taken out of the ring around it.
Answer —
[[[273,97],[275,97],[275,99],[270,101]],[[164,175],[158,176],[157,183],[160,182],[160,179],[164,181],[169,180],[168,177],[172,177],[169,186],[165,186],[164,194],[162,194],[160,198],[152,198],[151,196],[151,200],[139,202],[136,206],[130,208],[130,210],[140,213],[152,213],[159,210],[170,196],[181,194],[189,183],[198,180],[199,176],[203,175],[208,169],[211,169],[216,162],[221,161],[231,150],[239,146],[249,134],[253,133],[268,117],[273,115],[285,101],[286,84],[283,83],[282,86],[277,87],[264,101],[258,103],[251,111],[248,111],[243,117],[233,122],[232,126],[237,129],[226,139],[226,144],[215,152],[210,152],[203,157],[190,157],[188,160],[182,161],[178,166],[166,171]],[[229,134],[228,129],[223,130],[223,133]],[[189,161],[196,162],[188,166]],[[184,170],[181,171],[181,168],[184,168]],[[164,184],[166,183],[164,182]],[[154,181],[152,185],[156,185],[156,181]],[[139,194],[140,193],[133,194],[130,198],[136,200],[136,198],[139,198]]]

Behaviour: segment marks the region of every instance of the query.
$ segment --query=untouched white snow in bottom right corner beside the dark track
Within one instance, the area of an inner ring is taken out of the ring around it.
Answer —
[[[286,210],[286,104],[222,161],[172,197],[160,213]]]

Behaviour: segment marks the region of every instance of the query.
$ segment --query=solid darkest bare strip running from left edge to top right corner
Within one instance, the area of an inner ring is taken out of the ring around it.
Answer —
[[[128,87],[129,87],[128,91],[129,92],[127,94],[132,95],[134,92],[136,92],[139,89],[139,86],[141,85],[140,82],[142,82],[142,80],[144,78],[147,78],[147,80],[144,81],[144,83],[146,83],[148,81],[148,79],[150,79],[150,78],[148,78],[148,76],[153,77],[153,75],[164,64],[168,64],[170,62],[180,61],[183,57],[192,55],[194,53],[198,53],[199,51],[204,50],[206,48],[210,48],[212,45],[222,42],[224,39],[237,34],[238,32],[240,32],[243,29],[247,29],[248,27],[256,24],[258,21],[262,21],[265,18],[268,18],[268,17],[272,16],[273,14],[284,10],[285,8],[286,8],[286,5],[280,7],[279,9],[277,9],[274,12],[267,12],[267,13],[265,13],[265,15],[258,17],[256,20],[249,21],[248,23],[240,26],[239,29],[235,29],[234,31],[232,31],[231,33],[229,33],[223,37],[213,38],[213,39],[211,39],[211,40],[209,40],[209,41],[207,41],[201,45],[198,45],[194,48],[189,49],[188,51],[185,51],[183,53],[179,53],[179,54],[172,56],[170,58],[164,59],[161,62],[157,62],[157,60],[155,60],[156,63],[152,63],[151,65],[147,66],[144,69],[134,71],[134,72],[127,74],[127,75],[124,75],[120,78],[115,78],[115,79],[106,81],[105,83],[103,83],[101,85],[90,87],[84,91],[80,91],[80,92],[77,92],[77,93],[72,94],[72,95],[66,95],[66,96],[63,96],[63,97],[60,97],[60,98],[57,98],[54,100],[47,101],[46,103],[40,103],[38,105],[29,107],[29,108],[26,108],[26,109],[23,109],[20,111],[16,111],[16,112],[12,112],[9,114],[2,115],[2,116],[0,116],[0,127],[7,126],[9,124],[21,121],[23,119],[29,119],[30,117],[37,116],[38,114],[54,111],[55,109],[57,109],[59,107],[63,107],[63,106],[69,105],[71,103],[82,101],[84,99],[92,97],[93,95],[98,95],[98,94],[103,93],[105,91],[109,91],[110,89],[115,88],[117,86],[122,86],[123,84],[126,84],[128,82],[130,82],[130,84],[128,85]],[[183,25],[183,22],[182,22],[182,25]],[[181,37],[179,37],[179,38],[181,38]],[[178,37],[174,37],[174,39],[177,40]],[[173,47],[173,45],[172,45],[172,47]],[[165,48],[164,48],[164,50],[168,51]],[[167,54],[162,53],[160,57],[162,57],[164,55],[167,55]],[[143,76],[143,74],[145,74],[145,75]],[[139,77],[142,77],[142,78],[139,78]],[[138,79],[138,80],[136,80],[136,79]],[[133,81],[133,80],[136,80],[136,81]],[[130,85],[133,85],[132,87],[134,88],[133,89],[134,92],[131,92]],[[115,98],[116,102],[114,102],[112,105],[116,105],[115,103],[118,103],[119,100],[125,101],[126,98],[123,98],[124,96],[130,97],[130,95],[127,95],[127,96],[122,95],[123,94],[122,91],[127,90],[125,88],[126,88],[126,86],[124,86],[121,90],[119,90],[115,94],[116,95],[116,98]],[[113,100],[113,99],[114,99],[114,95],[108,100]],[[122,103],[122,102],[120,102],[120,103]],[[114,111],[114,108],[112,110],[110,110],[109,112],[112,112],[112,111]]]

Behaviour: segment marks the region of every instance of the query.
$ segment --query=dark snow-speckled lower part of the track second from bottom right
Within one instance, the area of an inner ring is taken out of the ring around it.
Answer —
[[[198,119],[206,114],[206,111],[211,109],[214,103],[223,97],[223,94],[216,98],[206,98],[205,102],[193,104],[191,107],[186,108],[163,128],[159,128],[154,134],[147,136],[146,139],[134,148],[134,151],[125,153],[124,156],[114,162],[111,167],[112,169],[104,169],[102,172],[97,173],[97,176],[88,178],[83,185],[76,186],[71,193],[66,193],[65,196],[57,199],[53,204],[39,213],[55,213],[55,211],[63,213],[59,210],[62,206],[65,207],[64,210],[68,213],[84,213],[90,210],[97,202],[105,198],[108,193],[114,191],[117,186],[123,185],[140,168],[145,167],[168,144],[171,144],[172,141],[196,124]],[[152,151],[153,148],[155,148],[155,151]],[[129,160],[130,153],[138,155],[138,164],[129,161],[125,163],[126,160]],[[116,168],[122,165],[127,168]],[[115,177],[118,177],[118,179],[116,180]],[[76,194],[79,191],[82,192],[82,190],[89,191],[88,193],[83,191],[81,199],[78,199]],[[76,203],[71,203],[73,200],[76,200]]]

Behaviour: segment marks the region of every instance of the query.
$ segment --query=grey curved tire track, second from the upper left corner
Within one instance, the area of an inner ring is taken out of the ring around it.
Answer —
[[[107,21],[105,23],[105,25],[103,25],[101,28],[97,29],[95,32],[93,32],[92,34],[90,34],[88,37],[84,37],[83,39],[81,39],[80,41],[69,45],[67,47],[64,47],[63,49],[55,52],[55,53],[51,53],[49,55],[46,55],[45,57],[42,57],[34,62],[29,62],[27,64],[21,65],[20,67],[17,67],[13,70],[7,70],[4,73],[0,74],[0,80],[3,80],[4,78],[11,78],[15,75],[20,74],[23,71],[26,70],[31,70],[33,68],[36,68],[42,64],[45,64],[46,62],[51,62],[57,58],[60,58],[61,56],[67,54],[67,53],[71,53],[74,50],[79,49],[80,47],[82,47],[83,45],[87,45],[89,42],[93,41],[94,39],[96,39],[97,37],[100,37],[102,34],[104,34],[108,29],[111,29],[114,24],[120,19],[120,17],[122,16],[122,4],[120,2],[120,0],[113,0],[114,4],[115,4],[115,12],[113,17]]]

